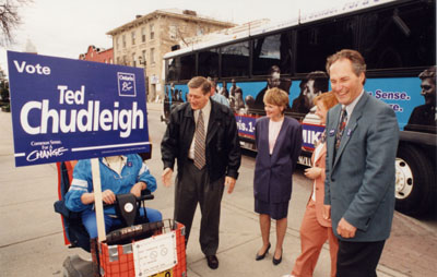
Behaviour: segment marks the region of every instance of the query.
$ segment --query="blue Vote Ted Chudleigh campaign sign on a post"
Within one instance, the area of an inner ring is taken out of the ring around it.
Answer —
[[[15,165],[150,152],[143,69],[8,51]]]

